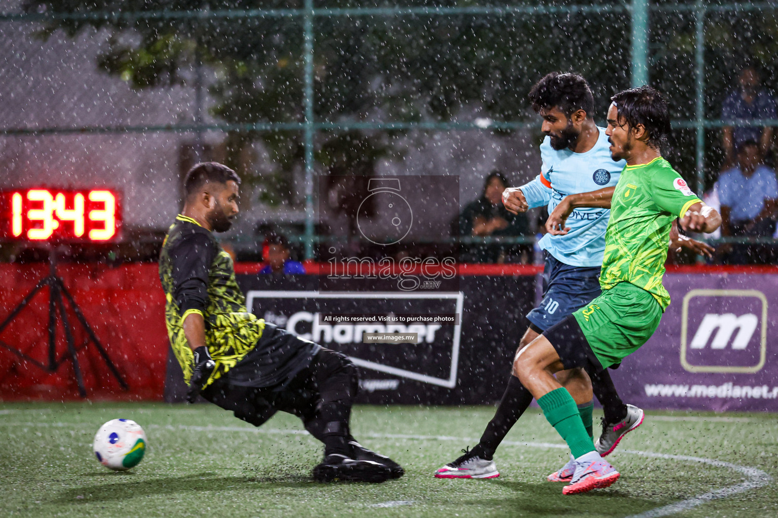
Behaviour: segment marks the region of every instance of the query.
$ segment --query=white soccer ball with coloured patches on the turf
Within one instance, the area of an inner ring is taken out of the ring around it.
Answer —
[[[92,447],[100,464],[115,471],[125,471],[142,460],[145,433],[135,421],[111,419],[97,430]]]

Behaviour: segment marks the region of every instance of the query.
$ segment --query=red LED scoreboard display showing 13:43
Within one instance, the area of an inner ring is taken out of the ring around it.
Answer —
[[[121,228],[121,196],[110,189],[0,191],[0,238],[110,242]]]

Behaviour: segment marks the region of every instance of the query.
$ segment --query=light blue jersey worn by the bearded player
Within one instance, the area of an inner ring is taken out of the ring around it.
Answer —
[[[619,175],[626,162],[613,161],[605,128],[599,130],[597,143],[585,153],[573,153],[569,149],[555,151],[548,137],[541,144],[541,174],[551,185],[548,214],[565,196],[614,187],[619,182]],[[555,259],[570,266],[601,266],[610,216],[611,211],[608,209],[577,208],[567,218],[566,226],[570,230],[566,235],[546,234],[538,245]]]

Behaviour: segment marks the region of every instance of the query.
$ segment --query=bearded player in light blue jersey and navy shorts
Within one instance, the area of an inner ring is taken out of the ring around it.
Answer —
[[[541,172],[524,186],[506,189],[503,192],[505,207],[516,214],[531,207],[548,206],[551,214],[570,195],[588,193],[585,196],[602,196],[610,200],[625,162],[611,158],[605,128],[594,123],[594,97],[586,80],[580,75],[554,72],[534,85],[529,97],[534,110],[543,117],[541,129],[546,135],[540,147]],[[569,230],[565,235],[546,234],[541,239],[539,245],[545,254],[543,300],[527,315],[529,329],[520,340],[518,350],[598,297],[609,217],[610,210],[605,208],[576,208],[567,218]],[[701,244],[686,240],[679,245],[693,248]],[[611,453],[625,433],[643,422],[643,410],[622,402],[607,370],[592,374],[591,381],[583,369],[562,371],[556,377],[573,396],[580,419],[592,439],[594,389],[605,413],[602,434],[596,444],[602,456]],[[499,476],[492,457],[531,402],[530,392],[517,377],[510,376],[495,416],[486,426],[478,445],[472,450],[463,450],[464,455],[438,469],[435,476]],[[548,480],[569,481],[574,468],[570,462],[548,475]]]

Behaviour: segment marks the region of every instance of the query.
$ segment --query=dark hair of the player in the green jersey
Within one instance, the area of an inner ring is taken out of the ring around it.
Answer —
[[[670,137],[670,107],[657,89],[643,85],[640,88],[622,90],[611,98],[619,114],[619,124],[627,127],[642,124],[648,138],[646,144],[663,151]]]

